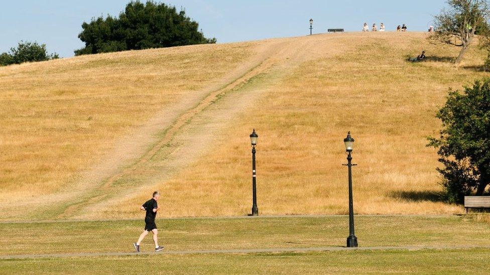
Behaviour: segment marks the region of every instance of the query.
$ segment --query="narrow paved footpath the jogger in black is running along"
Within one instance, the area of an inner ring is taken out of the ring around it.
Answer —
[[[223,250],[168,250],[147,252],[81,252],[81,253],[53,253],[53,254],[23,254],[0,255],[0,259],[29,259],[29,258],[60,258],[60,257],[97,257],[97,256],[129,256],[129,255],[153,255],[153,254],[245,254],[245,253],[281,253],[281,252],[310,252],[310,251],[360,251],[360,250],[445,250],[445,249],[490,249],[490,246],[372,246],[372,247],[311,247],[311,248],[257,248],[257,249],[223,249]]]

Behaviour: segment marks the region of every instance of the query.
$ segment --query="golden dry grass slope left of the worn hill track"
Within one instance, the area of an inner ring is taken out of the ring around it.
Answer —
[[[2,199],[56,192],[117,137],[219,84],[251,48],[201,45],[0,68]]]

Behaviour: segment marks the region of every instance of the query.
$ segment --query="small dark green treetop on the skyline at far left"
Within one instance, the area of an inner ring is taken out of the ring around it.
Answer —
[[[48,54],[46,44],[37,42],[19,42],[17,48],[11,48],[9,53],[0,54],[0,66],[21,64],[24,62],[38,62],[58,59],[58,54]]]

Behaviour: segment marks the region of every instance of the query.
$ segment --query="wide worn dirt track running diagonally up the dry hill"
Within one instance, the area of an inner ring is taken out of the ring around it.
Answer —
[[[231,117],[245,110],[254,98],[267,92],[268,87],[259,85],[247,93],[227,94],[271,72],[276,75],[271,83],[277,83],[305,61],[338,53],[333,39],[333,36],[319,35],[261,41],[256,46],[257,54],[248,62],[213,87],[198,91],[191,100],[161,110],[143,126],[121,137],[102,158],[103,162],[95,163],[75,183],[55,194],[27,201],[26,207],[33,206],[33,214],[28,218],[92,217],[101,205],[128,199],[129,193],[155,185],[155,179],[140,186],[121,187],[116,183],[135,170],[145,168],[155,154],[168,147],[171,141],[178,140],[180,145],[169,152],[165,167],[157,175],[160,182],[170,178],[205,153],[212,133],[225,127]],[[218,112],[210,107],[218,108]]]

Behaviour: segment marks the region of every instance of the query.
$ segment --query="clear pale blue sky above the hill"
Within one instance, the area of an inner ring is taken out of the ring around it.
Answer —
[[[4,0],[0,9],[0,52],[20,40],[46,43],[50,52],[73,56],[83,47],[81,24],[100,15],[118,15],[130,0]],[[425,31],[444,0],[169,0],[183,7],[218,43],[306,35],[327,28],[359,31],[364,22],[381,22],[391,31],[407,24],[409,31]]]

